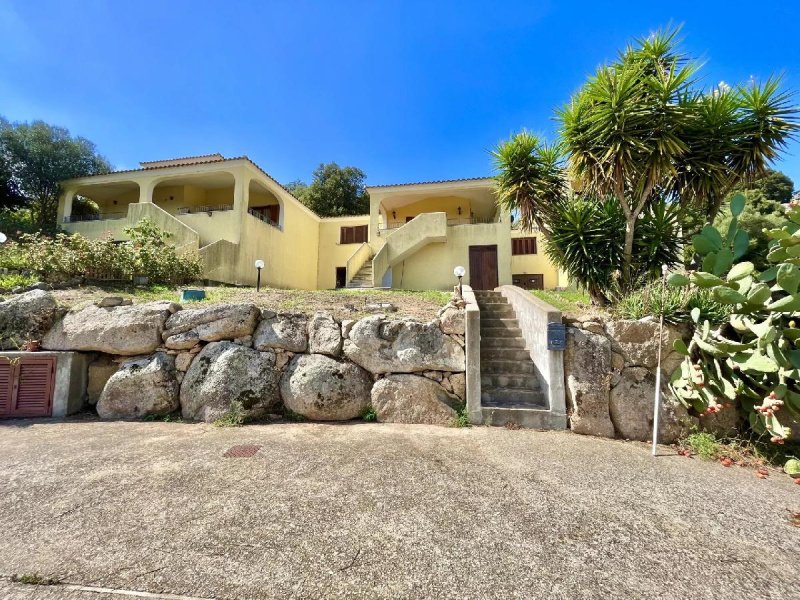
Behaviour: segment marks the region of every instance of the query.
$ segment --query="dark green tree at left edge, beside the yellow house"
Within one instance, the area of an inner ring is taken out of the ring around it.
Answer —
[[[111,170],[92,142],[43,121],[0,124],[0,154],[35,222],[47,230],[56,227],[61,181]]]

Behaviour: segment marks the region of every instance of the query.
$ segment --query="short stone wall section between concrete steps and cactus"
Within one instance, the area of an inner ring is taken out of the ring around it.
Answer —
[[[651,439],[658,327],[658,322],[649,318],[567,324],[564,377],[573,431],[600,437]],[[664,330],[659,441],[672,443],[699,423],[668,387],[669,376],[682,358],[672,350],[672,344],[676,339],[688,338],[690,332],[673,325],[665,325]]]

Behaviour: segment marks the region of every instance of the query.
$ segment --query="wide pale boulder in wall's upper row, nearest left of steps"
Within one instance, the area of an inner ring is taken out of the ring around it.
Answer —
[[[344,353],[372,373],[465,370],[464,349],[436,321],[366,317],[350,329]]]

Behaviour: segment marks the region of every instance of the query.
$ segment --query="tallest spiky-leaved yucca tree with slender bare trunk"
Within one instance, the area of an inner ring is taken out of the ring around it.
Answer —
[[[691,204],[713,220],[727,193],[763,174],[797,130],[779,80],[697,89],[698,67],[678,30],[620,53],[558,113],[570,177],[613,197],[625,215],[622,282],[630,286],[637,219],[654,198]]]

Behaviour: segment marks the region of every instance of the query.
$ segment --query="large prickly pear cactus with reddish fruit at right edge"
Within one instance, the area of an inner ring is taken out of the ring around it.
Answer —
[[[673,373],[675,395],[700,414],[738,407],[757,433],[769,432],[781,444],[791,431],[784,415],[800,416],[800,206],[790,204],[786,225],[766,232],[772,238],[762,273],[753,263],[736,262],[747,252],[747,233],[737,218],[745,197],[731,200],[733,220],[727,232],[711,226],[692,238],[702,270],[673,273],[672,286],[710,289],[730,307],[729,322],[712,329],[692,311],[695,332],[688,347],[675,350],[686,359]]]

